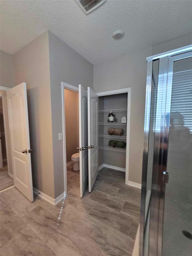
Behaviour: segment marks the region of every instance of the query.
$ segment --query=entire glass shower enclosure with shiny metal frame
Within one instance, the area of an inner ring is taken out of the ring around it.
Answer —
[[[140,256],[192,255],[192,45],[147,58]]]

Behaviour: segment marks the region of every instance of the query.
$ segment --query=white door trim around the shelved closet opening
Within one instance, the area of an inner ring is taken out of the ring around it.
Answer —
[[[106,95],[113,95],[113,94],[120,94],[120,93],[127,93],[127,145],[126,146],[126,166],[125,166],[125,184],[128,185],[129,182],[129,145],[130,145],[130,118],[131,118],[131,87],[117,89],[113,91],[106,91],[106,92],[98,92],[96,93],[98,96],[106,96]]]

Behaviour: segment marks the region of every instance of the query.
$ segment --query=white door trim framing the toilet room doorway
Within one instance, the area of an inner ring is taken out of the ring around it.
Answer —
[[[62,100],[62,125],[63,125],[63,173],[64,173],[64,192],[67,195],[67,159],[66,159],[66,134],[65,134],[65,102],[64,89],[79,92],[79,88],[68,83],[61,82],[61,100]]]

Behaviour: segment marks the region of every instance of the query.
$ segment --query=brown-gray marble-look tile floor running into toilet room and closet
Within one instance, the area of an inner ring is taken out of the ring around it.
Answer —
[[[86,188],[80,198],[79,172],[67,166],[67,198],[56,206],[37,196],[31,203],[15,187],[1,192],[1,256],[130,256],[140,190],[125,185],[122,177],[103,168],[93,191]]]

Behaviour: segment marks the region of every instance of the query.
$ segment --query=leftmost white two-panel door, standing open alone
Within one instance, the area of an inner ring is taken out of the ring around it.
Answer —
[[[14,185],[33,202],[26,83],[7,91]]]

